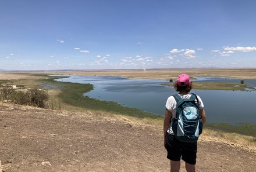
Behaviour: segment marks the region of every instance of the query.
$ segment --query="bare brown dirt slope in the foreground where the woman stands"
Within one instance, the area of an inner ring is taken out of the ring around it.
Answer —
[[[169,171],[160,126],[90,111],[0,104],[0,132],[5,172]],[[197,171],[255,171],[256,152],[201,138]]]

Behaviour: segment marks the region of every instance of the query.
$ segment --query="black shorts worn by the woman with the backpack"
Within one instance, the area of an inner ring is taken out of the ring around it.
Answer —
[[[166,133],[166,150],[170,160],[179,161],[182,158],[186,163],[196,163],[197,142],[180,142],[174,135]]]

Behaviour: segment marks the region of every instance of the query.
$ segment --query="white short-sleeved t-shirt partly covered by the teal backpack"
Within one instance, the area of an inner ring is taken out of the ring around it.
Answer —
[[[189,94],[178,94],[180,97],[182,98],[190,98],[191,97],[191,93]],[[198,98],[198,101],[199,101],[199,105],[200,105],[200,109],[204,109],[204,104],[202,103],[202,100],[199,96],[197,96]],[[197,99],[195,98],[195,101],[197,101]],[[176,100],[173,96],[170,96],[168,97],[167,101],[166,101],[166,104],[165,104],[165,107],[170,111],[172,112],[172,118],[176,118]],[[170,125],[169,129],[167,130],[167,132],[169,134],[173,134],[173,131],[172,131],[172,125]]]

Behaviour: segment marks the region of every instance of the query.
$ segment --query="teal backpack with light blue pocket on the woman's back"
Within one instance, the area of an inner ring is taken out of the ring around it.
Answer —
[[[176,100],[176,118],[172,119],[172,130],[177,140],[182,142],[196,142],[202,133],[199,101],[195,94],[190,98],[173,95]],[[197,101],[195,101],[195,99]]]

